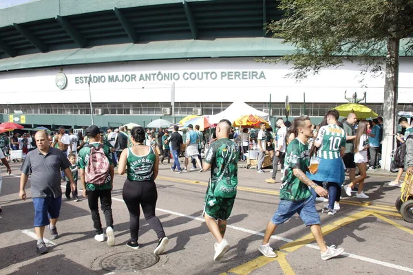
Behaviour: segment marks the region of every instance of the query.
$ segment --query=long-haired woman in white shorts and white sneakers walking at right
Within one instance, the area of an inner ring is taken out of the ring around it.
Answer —
[[[348,197],[351,197],[351,190],[356,184],[359,184],[359,190],[357,191],[356,197],[359,199],[368,199],[368,195],[364,194],[364,179],[367,177],[367,151],[369,148],[368,145],[368,136],[367,136],[367,120],[361,120],[359,126],[357,126],[357,135],[354,140],[354,162],[357,164],[360,170],[360,176],[355,178],[348,186],[346,186],[346,194]]]

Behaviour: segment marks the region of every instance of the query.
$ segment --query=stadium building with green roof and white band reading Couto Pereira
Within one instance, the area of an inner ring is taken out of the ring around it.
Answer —
[[[383,109],[383,74],[346,62],[297,82],[258,62],[294,51],[265,23],[277,1],[40,0],[0,10],[0,120],[26,126],[147,124],[211,115],[235,100],[284,115],[322,116],[366,92]],[[401,53],[399,111],[411,111],[413,58]],[[271,95],[271,104],[270,102]]]

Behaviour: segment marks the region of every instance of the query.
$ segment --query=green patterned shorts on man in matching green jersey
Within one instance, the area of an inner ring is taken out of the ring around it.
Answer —
[[[207,194],[205,196],[204,214],[215,220],[225,221],[231,215],[234,202],[235,197],[218,198]]]

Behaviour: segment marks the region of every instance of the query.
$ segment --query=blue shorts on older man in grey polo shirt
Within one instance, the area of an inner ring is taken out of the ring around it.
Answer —
[[[34,204],[34,227],[48,225],[49,219],[59,218],[60,208],[62,205],[62,196],[33,198]]]

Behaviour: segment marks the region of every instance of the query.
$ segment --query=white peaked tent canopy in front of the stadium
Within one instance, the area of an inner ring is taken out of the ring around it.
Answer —
[[[268,113],[264,113],[263,111],[254,109],[245,102],[235,101],[221,113],[217,113],[216,115],[210,115],[209,124],[218,124],[218,122],[220,122],[220,120],[222,119],[229,120],[232,123],[234,122],[234,120],[240,118],[240,116],[242,115],[257,115],[260,118],[264,118],[264,120],[266,121],[268,121],[268,119],[270,118],[270,115]]]

